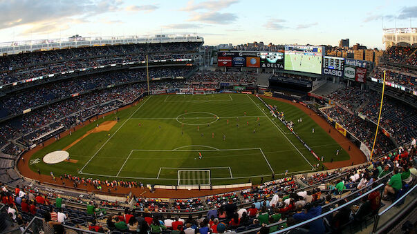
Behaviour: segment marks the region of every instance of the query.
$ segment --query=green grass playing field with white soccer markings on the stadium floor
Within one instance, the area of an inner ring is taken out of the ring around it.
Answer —
[[[329,162],[340,146],[302,110],[266,100],[303,118],[300,137]],[[264,110],[265,109],[265,110]],[[88,135],[97,124],[120,117],[109,131]],[[311,133],[315,128],[315,134]],[[68,148],[68,146],[71,146]],[[156,95],[42,148],[31,158],[64,148],[76,163],[30,164],[48,175],[136,180],[151,184],[259,183],[314,170],[317,159],[253,95]],[[201,158],[199,155],[201,154]],[[346,152],[337,160],[349,159]],[[39,161],[39,160],[38,160]]]

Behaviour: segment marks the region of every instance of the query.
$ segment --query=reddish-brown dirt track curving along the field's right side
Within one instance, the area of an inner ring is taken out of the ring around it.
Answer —
[[[326,166],[326,168],[328,169],[341,168],[344,166],[351,166],[352,164],[362,164],[364,162],[367,162],[367,157],[364,155],[362,150],[360,150],[357,146],[355,146],[355,144],[353,144],[351,141],[346,139],[344,135],[339,133],[335,128],[333,128],[333,126],[328,124],[326,120],[324,120],[322,117],[317,115],[317,113],[315,113],[310,108],[303,106],[302,104],[299,104],[297,102],[289,101],[287,99],[281,99],[277,97],[266,97],[263,95],[259,95],[259,96],[263,98],[267,98],[267,99],[274,99],[274,100],[282,101],[287,104],[291,104],[299,108],[300,110],[304,111],[304,113],[309,115],[311,119],[313,119],[316,122],[316,124],[322,127],[326,131],[326,133],[335,140],[335,142],[340,144],[340,146],[342,146],[342,148],[349,154],[349,157],[351,157],[351,159],[345,160],[345,161],[324,162],[323,164],[324,166]],[[328,133],[328,129],[331,129],[331,133]],[[349,146],[351,147],[350,151],[349,151]]]

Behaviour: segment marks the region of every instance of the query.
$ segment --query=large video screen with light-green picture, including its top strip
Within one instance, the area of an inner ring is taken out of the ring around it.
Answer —
[[[285,46],[284,69],[322,74],[322,46]]]

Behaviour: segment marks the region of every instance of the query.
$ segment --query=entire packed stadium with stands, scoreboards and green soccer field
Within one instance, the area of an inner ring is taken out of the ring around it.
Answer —
[[[0,43],[0,231],[412,233],[417,30],[383,41]]]

